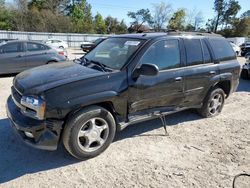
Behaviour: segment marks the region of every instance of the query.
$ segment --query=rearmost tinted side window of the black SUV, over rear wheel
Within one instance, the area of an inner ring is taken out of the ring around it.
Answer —
[[[216,59],[230,60],[235,59],[235,52],[232,46],[224,39],[210,39]]]

